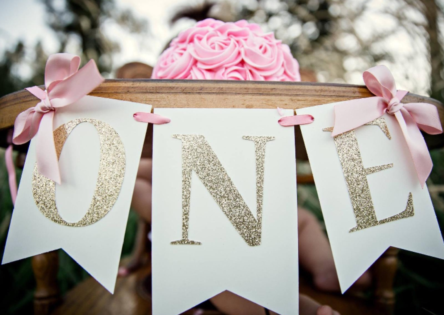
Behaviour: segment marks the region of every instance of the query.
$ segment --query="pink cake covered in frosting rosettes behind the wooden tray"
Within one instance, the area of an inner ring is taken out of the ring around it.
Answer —
[[[181,32],[159,57],[153,79],[300,81],[290,48],[246,20],[206,19]]]

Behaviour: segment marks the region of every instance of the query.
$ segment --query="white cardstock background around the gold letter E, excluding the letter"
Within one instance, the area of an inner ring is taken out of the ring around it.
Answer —
[[[312,124],[301,126],[313,177],[316,183],[329,241],[341,285],[345,292],[389,247],[415,251],[444,259],[444,243],[427,187],[421,189],[412,158],[396,118],[385,114],[389,140],[378,126],[355,129],[365,168],[393,163],[393,166],[365,176],[378,220],[396,215],[406,208],[412,193],[414,215],[359,231],[345,177],[331,132],[332,103],[298,109],[310,114]]]

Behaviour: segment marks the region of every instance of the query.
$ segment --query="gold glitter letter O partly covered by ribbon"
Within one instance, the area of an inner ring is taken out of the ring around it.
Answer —
[[[81,123],[94,125],[100,140],[99,174],[91,204],[83,218],[74,223],[63,220],[56,206],[56,183],[41,175],[37,164],[32,174],[32,195],[40,212],[51,221],[69,227],[84,227],[102,219],[117,200],[125,175],[125,149],[122,140],[110,125],[100,120],[75,119],[54,130],[57,158],[60,158],[63,144],[71,131]]]

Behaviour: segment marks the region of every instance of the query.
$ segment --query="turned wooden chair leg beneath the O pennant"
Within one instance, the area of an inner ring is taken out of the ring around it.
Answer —
[[[60,302],[60,291],[57,283],[58,251],[50,251],[32,257],[32,270],[36,278],[34,314],[48,315]]]

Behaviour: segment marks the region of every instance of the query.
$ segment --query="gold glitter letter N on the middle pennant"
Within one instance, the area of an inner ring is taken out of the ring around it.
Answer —
[[[234,186],[216,154],[201,135],[173,135],[182,140],[182,239],[173,245],[199,245],[188,239],[190,220],[191,171],[195,171],[231,224],[250,246],[261,244],[262,192],[264,183],[264,162],[266,142],[274,137],[243,136],[254,141],[256,152],[256,213],[254,218],[244,199]]]

